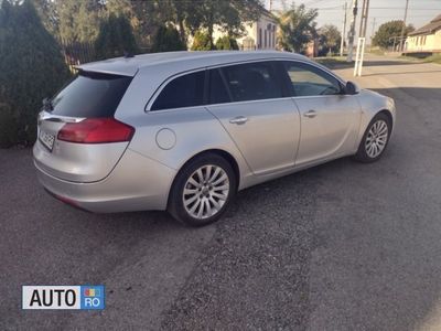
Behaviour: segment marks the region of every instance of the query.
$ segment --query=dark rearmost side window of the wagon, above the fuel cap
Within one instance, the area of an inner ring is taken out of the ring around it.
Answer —
[[[151,110],[201,106],[204,104],[205,71],[171,81],[159,94]]]

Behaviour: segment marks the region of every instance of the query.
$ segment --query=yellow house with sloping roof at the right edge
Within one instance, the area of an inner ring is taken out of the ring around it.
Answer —
[[[441,14],[430,23],[408,34],[405,53],[440,53],[441,52]]]

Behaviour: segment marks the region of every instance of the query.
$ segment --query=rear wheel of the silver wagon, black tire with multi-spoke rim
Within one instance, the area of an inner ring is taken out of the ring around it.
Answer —
[[[204,226],[226,212],[236,194],[237,179],[227,160],[205,153],[178,173],[169,197],[169,213],[185,225]]]

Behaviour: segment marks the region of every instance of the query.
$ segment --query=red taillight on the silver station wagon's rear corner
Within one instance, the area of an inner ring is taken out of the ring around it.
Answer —
[[[135,129],[115,118],[87,118],[68,122],[58,132],[58,140],[79,143],[130,141]]]

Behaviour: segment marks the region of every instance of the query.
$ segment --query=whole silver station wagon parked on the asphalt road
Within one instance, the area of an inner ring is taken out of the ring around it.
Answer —
[[[345,156],[378,160],[394,100],[304,56],[173,52],[80,65],[39,115],[37,177],[92,212],[218,220],[237,191]]]

